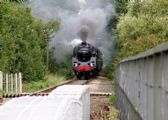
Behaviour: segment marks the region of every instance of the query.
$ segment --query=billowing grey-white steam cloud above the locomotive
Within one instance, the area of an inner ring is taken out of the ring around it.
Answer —
[[[73,47],[81,42],[79,32],[83,26],[88,28],[87,42],[99,48],[105,61],[108,60],[112,39],[106,26],[115,15],[115,8],[108,0],[31,0],[28,4],[36,18],[60,22],[59,31],[50,42],[57,60],[72,54]]]

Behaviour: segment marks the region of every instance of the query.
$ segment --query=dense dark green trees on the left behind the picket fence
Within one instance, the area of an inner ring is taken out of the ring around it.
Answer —
[[[44,79],[46,36],[52,33],[51,26],[56,24],[36,21],[29,8],[0,2],[0,70],[22,72],[26,81]]]

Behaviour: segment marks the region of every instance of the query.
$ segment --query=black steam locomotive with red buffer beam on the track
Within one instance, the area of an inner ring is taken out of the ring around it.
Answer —
[[[97,76],[102,70],[103,55],[98,48],[82,42],[73,50],[73,73],[80,80]]]

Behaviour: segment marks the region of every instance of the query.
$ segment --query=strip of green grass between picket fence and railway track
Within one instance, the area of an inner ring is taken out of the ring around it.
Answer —
[[[65,80],[66,78],[64,76],[58,74],[49,74],[46,80],[23,83],[23,92],[35,92],[47,87],[57,85]]]

